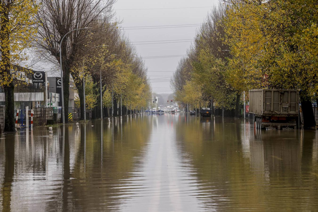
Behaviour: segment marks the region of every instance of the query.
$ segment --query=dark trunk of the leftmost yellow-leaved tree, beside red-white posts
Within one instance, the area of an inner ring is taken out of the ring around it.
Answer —
[[[15,132],[14,119],[14,84],[3,86],[5,95],[5,117],[4,117],[4,132]]]

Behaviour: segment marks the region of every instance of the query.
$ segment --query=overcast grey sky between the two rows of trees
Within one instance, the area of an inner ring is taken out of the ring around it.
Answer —
[[[147,58],[148,76],[154,92],[171,93],[170,79],[181,57],[170,55],[184,55],[201,24],[211,10],[218,4],[217,0],[117,0],[114,5],[116,17],[122,20],[125,34],[137,48],[142,57],[169,56],[168,58]],[[185,8],[188,7],[188,8]],[[189,8],[191,7],[191,8]],[[196,8],[193,8],[196,7]],[[154,8],[185,8],[185,9],[154,9]],[[129,10],[126,10],[129,9]],[[132,10],[143,9],[143,10]],[[184,24],[197,24],[188,27]],[[178,26],[167,26],[178,25]],[[145,27],[151,26],[151,27]],[[154,27],[152,27],[154,26]],[[132,29],[131,27],[135,27]],[[162,28],[170,27],[170,28]],[[140,29],[156,28],[156,29]],[[161,29],[160,29],[161,28]],[[128,30],[129,29],[129,30]],[[185,40],[189,39],[189,40]],[[169,41],[166,41],[169,40]],[[171,41],[174,40],[174,41]],[[142,41],[142,42],[141,42]],[[162,41],[146,43],[144,41]],[[187,42],[184,42],[187,41]],[[158,81],[158,82],[156,82]]]

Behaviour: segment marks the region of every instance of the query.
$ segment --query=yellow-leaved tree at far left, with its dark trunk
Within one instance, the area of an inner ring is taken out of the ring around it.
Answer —
[[[4,131],[14,132],[14,66],[28,57],[22,53],[37,33],[33,17],[38,6],[31,0],[0,1],[0,86],[5,95]],[[13,72],[11,72],[13,70]]]

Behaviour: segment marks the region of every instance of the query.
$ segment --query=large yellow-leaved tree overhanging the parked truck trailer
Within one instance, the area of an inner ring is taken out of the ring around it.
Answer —
[[[315,126],[318,5],[315,0],[231,1],[226,17],[232,85],[301,89],[304,127]]]

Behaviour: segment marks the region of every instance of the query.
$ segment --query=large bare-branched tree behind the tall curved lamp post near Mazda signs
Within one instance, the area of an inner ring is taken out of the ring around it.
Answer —
[[[37,14],[38,40],[36,46],[43,53],[52,55],[52,62],[59,64],[59,51],[62,55],[64,109],[65,120],[68,122],[69,81],[73,61],[76,61],[81,48],[93,42],[96,30],[76,30],[69,33],[59,44],[66,33],[74,29],[95,27],[100,20],[114,17],[112,5],[115,0],[41,0],[41,8]],[[107,27],[107,26],[105,26]],[[77,86],[82,94],[81,86]]]

